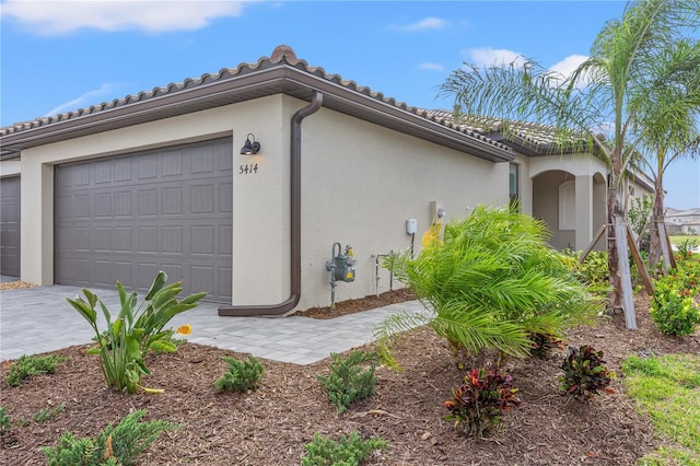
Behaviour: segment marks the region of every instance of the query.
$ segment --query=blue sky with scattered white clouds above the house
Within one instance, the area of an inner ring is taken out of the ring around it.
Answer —
[[[269,57],[278,45],[410,106],[465,62],[523,56],[567,74],[626,3],[550,1],[0,2],[0,126]],[[665,174],[666,207],[700,208],[700,161]]]

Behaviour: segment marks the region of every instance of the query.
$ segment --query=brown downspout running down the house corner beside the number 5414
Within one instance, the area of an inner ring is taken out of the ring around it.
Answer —
[[[290,167],[290,296],[279,304],[221,306],[219,315],[226,317],[271,317],[293,310],[302,295],[302,120],[318,112],[324,95],[314,91],[311,103],[292,115]]]

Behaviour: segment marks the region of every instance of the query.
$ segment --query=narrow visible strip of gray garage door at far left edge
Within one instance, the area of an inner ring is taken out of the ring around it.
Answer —
[[[0,275],[20,277],[20,177],[0,179]]]

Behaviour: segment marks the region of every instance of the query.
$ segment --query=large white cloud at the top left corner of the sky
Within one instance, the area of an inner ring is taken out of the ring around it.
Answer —
[[[240,16],[244,1],[26,1],[2,3],[12,19],[39,35],[68,34],[80,28],[137,30],[149,33],[191,31],[221,16]]]

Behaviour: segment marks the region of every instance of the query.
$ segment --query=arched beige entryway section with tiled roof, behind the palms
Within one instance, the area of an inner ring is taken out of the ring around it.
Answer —
[[[450,110],[429,110],[435,118],[452,123]],[[557,249],[588,247],[607,217],[606,163],[590,153],[562,151],[552,131],[540,125],[523,124],[508,139],[499,126],[479,131],[508,144],[515,155],[509,162],[509,193],[522,211],[542,220],[549,228],[549,243]],[[623,209],[632,199],[654,193],[653,182],[642,173],[628,171],[622,179]],[[604,240],[596,249],[606,249]]]

